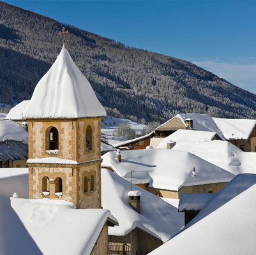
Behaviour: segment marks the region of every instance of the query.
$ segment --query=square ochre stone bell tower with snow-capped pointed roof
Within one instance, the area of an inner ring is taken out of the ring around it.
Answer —
[[[34,89],[29,123],[29,198],[101,208],[100,125],[106,112],[63,46]]]

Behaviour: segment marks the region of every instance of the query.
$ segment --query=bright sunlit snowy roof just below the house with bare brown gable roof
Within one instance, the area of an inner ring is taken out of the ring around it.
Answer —
[[[166,149],[167,143],[171,140],[174,142],[173,149],[188,151],[199,141],[213,140],[216,132],[197,131],[190,129],[179,129],[163,139],[157,148]]]

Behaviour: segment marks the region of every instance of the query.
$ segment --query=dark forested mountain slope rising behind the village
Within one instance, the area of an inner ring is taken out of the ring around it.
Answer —
[[[256,118],[256,96],[194,64],[130,48],[71,25],[66,48],[110,115],[134,121],[177,113]],[[1,101],[30,99],[62,47],[63,24],[0,2]]]

